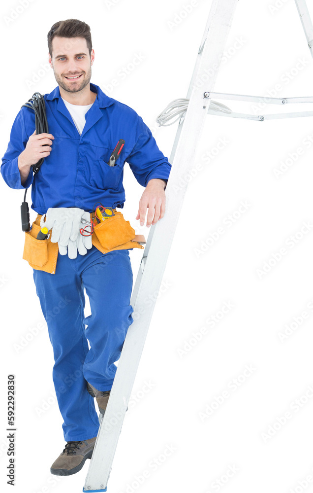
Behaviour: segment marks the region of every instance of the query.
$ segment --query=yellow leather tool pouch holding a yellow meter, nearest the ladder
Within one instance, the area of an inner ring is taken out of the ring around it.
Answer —
[[[95,224],[94,235],[105,250],[117,247],[120,249],[141,247],[137,242],[131,242],[136,236],[135,230],[130,226],[129,221],[125,221],[120,211],[115,211],[114,216]],[[128,245],[129,243],[131,246]]]

